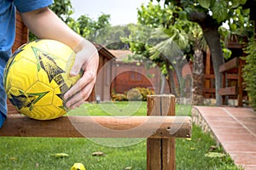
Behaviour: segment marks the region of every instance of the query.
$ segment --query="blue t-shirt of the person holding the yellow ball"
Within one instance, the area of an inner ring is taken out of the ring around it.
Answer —
[[[15,11],[29,12],[52,4],[52,0],[0,0],[0,127],[7,115],[3,70],[15,42]]]

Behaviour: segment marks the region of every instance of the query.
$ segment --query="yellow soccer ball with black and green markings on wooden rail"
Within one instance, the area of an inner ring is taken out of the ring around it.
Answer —
[[[70,77],[75,53],[54,40],[37,40],[20,48],[9,59],[3,84],[9,101],[21,114],[49,120],[67,112],[64,94],[77,77]]]

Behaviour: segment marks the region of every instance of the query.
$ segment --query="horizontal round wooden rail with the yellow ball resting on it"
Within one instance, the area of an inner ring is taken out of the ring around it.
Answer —
[[[178,128],[177,132],[170,133],[171,128]],[[159,139],[186,138],[190,131],[188,116],[62,116],[38,121],[9,115],[0,136]]]

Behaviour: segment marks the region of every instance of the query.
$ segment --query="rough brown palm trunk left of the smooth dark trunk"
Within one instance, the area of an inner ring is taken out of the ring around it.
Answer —
[[[193,61],[193,105],[203,104],[203,54],[200,49],[195,49]]]

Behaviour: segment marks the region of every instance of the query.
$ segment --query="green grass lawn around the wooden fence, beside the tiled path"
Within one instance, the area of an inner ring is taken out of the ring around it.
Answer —
[[[115,105],[102,105],[86,104],[76,111],[70,111],[69,115],[78,113],[84,115],[84,112],[87,115],[96,115],[96,113],[99,115],[117,115],[118,112],[111,112],[113,108],[119,109],[123,115],[145,115],[146,113],[145,102],[140,105],[131,104],[137,105],[137,111],[134,114],[132,108],[129,108],[130,106],[124,102]],[[188,105],[177,106],[177,114],[186,115],[184,111],[189,111],[189,107]],[[146,169],[146,139],[135,140],[136,144],[126,144],[128,146],[125,147],[109,147],[102,144],[129,142],[129,140],[101,140],[97,140],[96,143],[94,139],[1,137],[0,169],[69,170],[75,162],[83,163],[87,170]],[[230,156],[207,157],[206,154],[210,151],[224,153],[221,148],[212,146],[216,146],[216,143],[210,135],[202,133],[199,127],[193,126],[192,139],[176,140],[177,169],[238,169]],[[102,151],[103,156],[93,156],[96,151]],[[65,153],[68,156],[55,156],[56,153]]]

